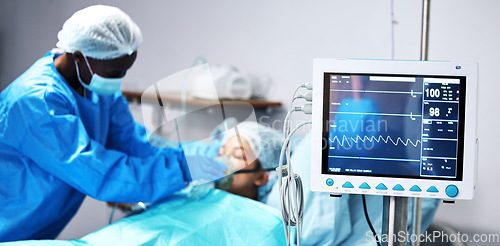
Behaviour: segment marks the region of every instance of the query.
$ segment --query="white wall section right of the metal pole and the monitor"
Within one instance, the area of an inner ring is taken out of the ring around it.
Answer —
[[[496,151],[500,120],[498,67],[500,24],[498,1],[434,1],[432,6],[431,59],[479,63],[478,134],[479,174],[472,201],[441,206],[437,219],[462,228],[500,232],[500,166]]]

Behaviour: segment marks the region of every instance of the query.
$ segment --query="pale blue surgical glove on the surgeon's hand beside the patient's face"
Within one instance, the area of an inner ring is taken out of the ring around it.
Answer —
[[[225,176],[226,165],[206,155],[186,156],[186,162],[193,181],[206,180],[210,182]]]

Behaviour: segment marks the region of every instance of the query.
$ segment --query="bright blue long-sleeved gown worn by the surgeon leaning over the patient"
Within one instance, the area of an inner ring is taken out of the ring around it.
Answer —
[[[189,181],[180,149],[159,149],[120,92],[77,94],[49,52],[0,94],[0,241],[55,238],[85,195],[154,202]]]

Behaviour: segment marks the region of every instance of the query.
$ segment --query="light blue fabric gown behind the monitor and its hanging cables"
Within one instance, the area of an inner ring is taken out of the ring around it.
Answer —
[[[311,135],[294,148],[291,159],[293,170],[302,178],[304,185],[304,216],[301,245],[377,245],[365,219],[361,195],[344,194],[332,198],[329,193],[312,192],[310,188]],[[280,208],[279,182],[276,182],[268,196],[267,204]],[[412,201],[413,199],[410,199]],[[434,218],[440,200],[422,199],[422,231]],[[366,206],[370,221],[380,236],[382,232],[383,197],[366,196]],[[408,222],[411,227],[413,203],[408,207]],[[295,229],[292,242],[297,241]]]

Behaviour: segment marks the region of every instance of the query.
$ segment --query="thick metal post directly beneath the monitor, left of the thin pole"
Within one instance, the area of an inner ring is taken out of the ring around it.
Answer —
[[[381,240],[384,246],[406,246],[408,227],[408,197],[384,196]],[[403,237],[401,237],[403,235]]]

